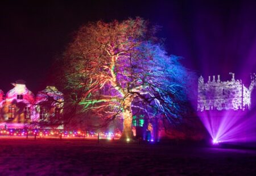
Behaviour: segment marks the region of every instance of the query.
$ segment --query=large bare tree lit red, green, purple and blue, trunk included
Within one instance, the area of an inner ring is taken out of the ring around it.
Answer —
[[[64,53],[67,99],[107,121],[122,118],[122,137],[133,136],[135,110],[176,123],[187,100],[187,70],[154,33],[141,18],[82,26]]]

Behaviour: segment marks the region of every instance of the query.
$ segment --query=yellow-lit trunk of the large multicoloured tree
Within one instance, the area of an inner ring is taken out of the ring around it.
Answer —
[[[131,125],[133,121],[133,114],[131,113],[131,101],[125,100],[125,106],[123,108],[123,132],[121,140],[133,139],[133,131],[131,130]]]

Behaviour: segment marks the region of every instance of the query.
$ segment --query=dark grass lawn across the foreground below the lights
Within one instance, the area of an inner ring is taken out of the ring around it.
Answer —
[[[0,175],[255,175],[256,151],[119,141],[0,139]]]

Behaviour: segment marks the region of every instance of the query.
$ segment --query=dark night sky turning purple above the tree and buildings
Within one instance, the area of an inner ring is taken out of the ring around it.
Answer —
[[[16,79],[34,93],[46,86],[55,56],[89,21],[141,16],[162,26],[170,55],[206,78],[256,72],[255,1],[1,1],[0,89]]]

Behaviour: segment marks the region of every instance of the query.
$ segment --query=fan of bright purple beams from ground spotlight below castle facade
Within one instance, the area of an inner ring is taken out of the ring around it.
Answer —
[[[248,111],[203,111],[201,121],[213,144],[256,142],[256,118]]]

